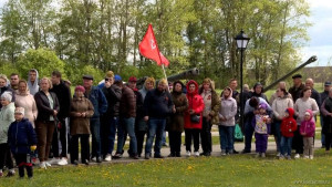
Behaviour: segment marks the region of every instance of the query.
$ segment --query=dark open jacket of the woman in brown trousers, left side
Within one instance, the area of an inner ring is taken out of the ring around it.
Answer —
[[[51,94],[51,96],[53,98],[53,102],[54,102],[53,110],[51,108],[49,98],[48,98],[48,96],[45,95],[45,93],[43,91],[39,91],[34,95],[35,105],[37,105],[37,110],[38,110],[37,122],[48,122],[48,121],[50,121],[50,116],[53,115],[53,111],[55,110],[55,111],[59,112],[59,110],[60,110],[59,101],[58,101],[58,97],[56,97],[55,93],[50,92],[50,94]]]

